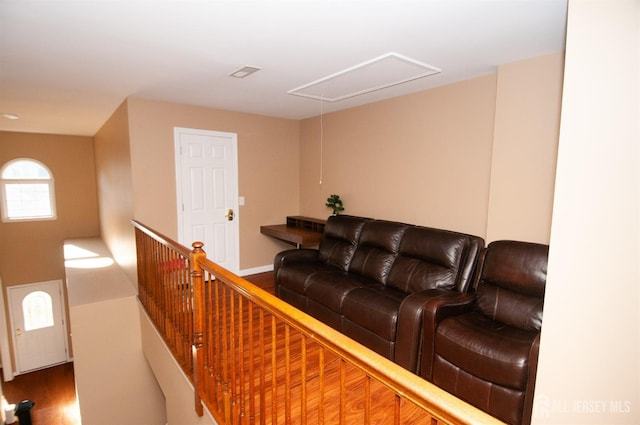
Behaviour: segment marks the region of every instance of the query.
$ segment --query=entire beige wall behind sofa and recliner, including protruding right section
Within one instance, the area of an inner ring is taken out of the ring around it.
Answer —
[[[322,140],[319,117],[302,121],[301,213],[328,216],[337,193],[346,214],[548,243],[562,67],[545,56],[327,114]]]

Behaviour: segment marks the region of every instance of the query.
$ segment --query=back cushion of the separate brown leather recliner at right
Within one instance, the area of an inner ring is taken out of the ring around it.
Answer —
[[[547,281],[547,245],[495,241],[484,253],[476,286],[476,309],[526,331],[542,326]]]

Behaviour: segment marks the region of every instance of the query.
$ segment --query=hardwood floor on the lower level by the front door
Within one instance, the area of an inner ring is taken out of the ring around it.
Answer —
[[[2,392],[10,404],[32,400],[33,425],[80,425],[76,400],[73,363],[16,376],[2,383]],[[16,421],[17,423],[17,421]]]

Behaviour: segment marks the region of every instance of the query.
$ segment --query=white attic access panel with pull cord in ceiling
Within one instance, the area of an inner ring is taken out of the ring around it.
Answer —
[[[289,90],[288,93],[327,102],[337,102],[440,72],[441,70],[438,68],[406,56],[387,53]]]

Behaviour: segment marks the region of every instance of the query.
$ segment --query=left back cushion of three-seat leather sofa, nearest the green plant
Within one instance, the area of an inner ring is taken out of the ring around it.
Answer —
[[[318,247],[318,258],[342,271],[349,269],[360,233],[368,218],[349,215],[329,217],[324,226],[324,234]]]

